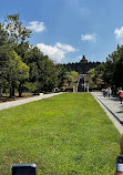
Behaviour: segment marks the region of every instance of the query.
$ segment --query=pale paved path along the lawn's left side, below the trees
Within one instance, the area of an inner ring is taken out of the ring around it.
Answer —
[[[42,100],[42,99],[59,95],[61,93],[40,94],[38,96],[34,96],[34,97],[28,97],[28,99],[22,99],[22,100],[18,100],[18,101],[0,103],[0,111],[6,110],[6,109],[10,109],[10,107],[14,107],[14,106],[18,106],[18,105],[21,105],[21,104],[30,103],[30,102],[33,102],[33,101],[39,101],[39,100]]]

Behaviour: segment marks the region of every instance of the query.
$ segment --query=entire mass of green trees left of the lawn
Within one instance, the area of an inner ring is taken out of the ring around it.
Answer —
[[[0,23],[0,87],[9,86],[10,96],[14,95],[14,87],[21,96],[22,86],[34,92],[52,91],[59,78],[59,84],[63,82],[63,72],[60,75],[53,61],[37,47],[29,47],[30,37],[31,31],[22,25],[17,13],[7,16],[4,23]]]

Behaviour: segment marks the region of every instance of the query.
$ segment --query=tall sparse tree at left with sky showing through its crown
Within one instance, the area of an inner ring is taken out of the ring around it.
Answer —
[[[31,37],[31,30],[22,27],[19,14],[10,14],[6,17],[4,29],[8,31],[9,43],[11,43],[11,50],[14,50],[21,58],[24,58],[25,51],[29,49],[29,41],[27,38]],[[19,87],[19,95],[21,95],[21,84]],[[14,85],[12,86],[14,89]]]

